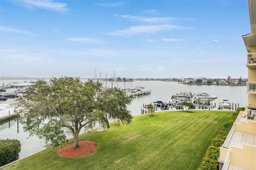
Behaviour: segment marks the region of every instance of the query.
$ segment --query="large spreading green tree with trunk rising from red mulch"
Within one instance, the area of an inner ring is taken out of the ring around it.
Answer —
[[[25,131],[44,138],[46,146],[59,146],[71,134],[74,147],[78,147],[82,129],[91,130],[96,124],[109,128],[109,118],[126,124],[132,121],[127,110],[131,99],[120,89],[102,90],[100,82],[73,77],[52,78],[50,82],[49,86],[37,80],[19,99]]]

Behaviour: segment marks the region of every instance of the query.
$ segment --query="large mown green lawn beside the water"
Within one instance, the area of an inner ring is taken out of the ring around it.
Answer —
[[[135,116],[130,125],[84,133],[98,143],[83,158],[62,158],[50,148],[6,169],[197,169],[228,111],[161,112]]]

